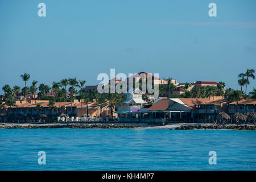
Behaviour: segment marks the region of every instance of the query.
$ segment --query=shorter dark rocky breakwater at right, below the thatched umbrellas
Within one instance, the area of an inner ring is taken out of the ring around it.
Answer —
[[[213,125],[213,124],[201,124],[201,125],[181,125],[176,127],[175,130],[207,130],[207,129],[229,129],[229,130],[256,130],[254,125]]]

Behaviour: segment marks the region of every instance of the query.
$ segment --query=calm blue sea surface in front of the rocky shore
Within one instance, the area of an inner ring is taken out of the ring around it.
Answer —
[[[38,152],[46,152],[46,165]],[[209,151],[217,164],[208,163]],[[1,129],[0,170],[255,170],[256,132]]]

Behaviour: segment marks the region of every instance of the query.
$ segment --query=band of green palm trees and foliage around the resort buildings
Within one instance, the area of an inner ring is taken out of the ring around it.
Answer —
[[[164,96],[167,94],[167,97],[169,98],[209,98],[212,96],[222,96],[230,101],[238,102],[241,99],[256,99],[255,88],[253,88],[253,90],[249,92],[249,95],[247,95],[247,86],[250,84],[251,79],[255,79],[254,73],[254,69],[247,69],[245,73],[240,73],[238,75],[239,79],[237,82],[241,87],[239,92],[238,90],[234,90],[232,88],[225,88],[225,83],[222,81],[218,82],[217,86],[201,86],[200,88],[193,87],[192,89],[192,84],[185,82],[185,84],[181,86],[184,93],[177,95],[172,93],[172,91],[177,88],[172,81],[172,78],[164,79],[167,81],[166,86],[152,84],[152,89],[154,89],[154,86],[159,86],[159,96]],[[28,100],[28,98],[30,98],[30,100],[35,100],[36,94],[38,94],[38,100],[49,100],[48,106],[50,107],[51,111],[57,109],[55,107],[56,102],[59,103],[60,112],[61,102],[70,102],[72,106],[72,102],[75,99],[79,99],[81,101],[81,106],[83,103],[86,105],[89,102],[94,101],[96,105],[100,107],[100,113],[102,113],[103,109],[108,107],[111,111],[111,115],[113,115],[114,109],[118,105],[121,105],[122,101],[125,100],[124,94],[98,94],[96,91],[84,93],[83,89],[86,81],[77,80],[76,78],[63,78],[59,82],[53,81],[51,86],[44,83],[39,84],[38,81],[33,80],[32,84],[28,86],[30,74],[24,73],[23,75],[20,75],[20,77],[24,81],[23,88],[20,88],[18,85],[11,88],[11,86],[7,84],[2,87],[5,96],[3,101],[5,102],[1,102],[1,108],[5,106],[15,107],[16,101]],[[139,81],[139,86],[141,87],[141,85],[142,82]],[[245,93],[243,92],[244,86]],[[77,88],[80,90],[76,90]],[[37,108],[40,110],[39,106],[37,106]]]

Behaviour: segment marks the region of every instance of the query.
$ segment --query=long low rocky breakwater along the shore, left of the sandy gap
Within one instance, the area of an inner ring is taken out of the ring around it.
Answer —
[[[116,125],[113,123],[92,123],[92,124],[54,124],[54,125],[0,125],[0,129],[136,129],[134,125]]]

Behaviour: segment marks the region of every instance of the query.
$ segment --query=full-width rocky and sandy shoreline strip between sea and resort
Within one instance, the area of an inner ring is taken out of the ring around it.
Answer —
[[[0,123],[0,129],[169,129],[169,130],[256,130],[255,125],[207,123]]]

